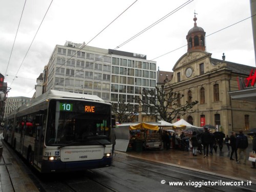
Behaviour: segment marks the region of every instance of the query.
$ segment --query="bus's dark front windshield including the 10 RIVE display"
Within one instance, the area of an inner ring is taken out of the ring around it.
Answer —
[[[46,145],[110,139],[111,106],[107,103],[50,100]]]

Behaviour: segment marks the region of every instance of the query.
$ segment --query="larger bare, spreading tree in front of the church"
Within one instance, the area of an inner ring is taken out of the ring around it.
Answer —
[[[162,86],[156,87],[156,92],[143,89],[142,98],[137,97],[137,102],[142,106],[142,112],[146,115],[154,115],[158,120],[172,122],[179,115],[195,112],[192,108],[198,101],[191,101],[192,97],[189,96],[188,101],[181,104],[180,99],[183,97],[184,95],[173,92],[173,89],[169,92],[164,91]]]

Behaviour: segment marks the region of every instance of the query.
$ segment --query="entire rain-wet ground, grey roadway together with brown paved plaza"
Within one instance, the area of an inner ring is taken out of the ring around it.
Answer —
[[[2,142],[0,191],[256,191],[250,162],[231,162],[228,153],[203,158],[175,150],[116,152],[111,167],[42,175]]]

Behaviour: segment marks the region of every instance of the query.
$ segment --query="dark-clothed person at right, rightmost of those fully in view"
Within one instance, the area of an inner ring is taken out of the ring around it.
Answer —
[[[246,164],[246,148],[248,147],[248,138],[243,134],[243,130],[239,130],[239,135],[237,136],[237,149],[238,149],[238,161],[241,163],[241,153],[243,152],[244,164]]]

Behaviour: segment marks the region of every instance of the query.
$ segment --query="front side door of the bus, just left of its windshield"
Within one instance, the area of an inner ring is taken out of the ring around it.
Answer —
[[[41,167],[42,147],[44,146],[44,136],[42,134],[42,119],[44,115],[36,115],[36,135],[34,147],[34,165]]]

